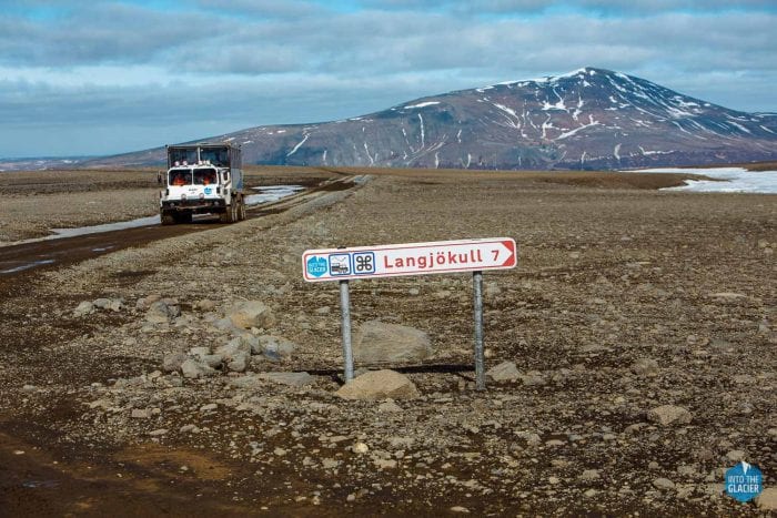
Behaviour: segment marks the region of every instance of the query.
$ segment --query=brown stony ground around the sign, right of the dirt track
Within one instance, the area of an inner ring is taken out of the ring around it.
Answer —
[[[0,509],[774,512],[774,196],[649,189],[666,175],[373,173],[0,280]],[[343,386],[337,287],[302,281],[303,251],[497,236],[521,258],[485,274],[487,390],[464,274],[351,283],[373,349]],[[765,475],[757,502],[723,494],[743,459]]]

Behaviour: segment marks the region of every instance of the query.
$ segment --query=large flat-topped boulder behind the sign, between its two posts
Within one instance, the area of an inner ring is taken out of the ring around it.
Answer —
[[[353,357],[359,364],[417,363],[433,354],[428,335],[413,327],[367,321],[354,333]]]

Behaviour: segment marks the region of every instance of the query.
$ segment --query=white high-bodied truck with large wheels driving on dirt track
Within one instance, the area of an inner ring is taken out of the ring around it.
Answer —
[[[168,145],[160,192],[163,225],[191,223],[194,214],[218,214],[221,223],[245,220],[242,155],[230,142]],[[161,176],[161,174],[160,174]]]

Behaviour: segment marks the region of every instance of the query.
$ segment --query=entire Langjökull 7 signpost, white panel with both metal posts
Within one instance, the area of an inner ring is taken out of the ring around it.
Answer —
[[[482,390],[485,388],[483,271],[514,268],[517,263],[515,240],[494,237],[309,250],[302,254],[302,275],[310,283],[340,282],[344,375],[347,383],[353,379],[350,280],[473,272],[475,385]]]

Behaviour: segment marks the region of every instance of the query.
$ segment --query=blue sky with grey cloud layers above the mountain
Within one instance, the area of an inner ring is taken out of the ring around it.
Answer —
[[[775,0],[0,3],[0,158],[339,120],[586,65],[777,112]]]

